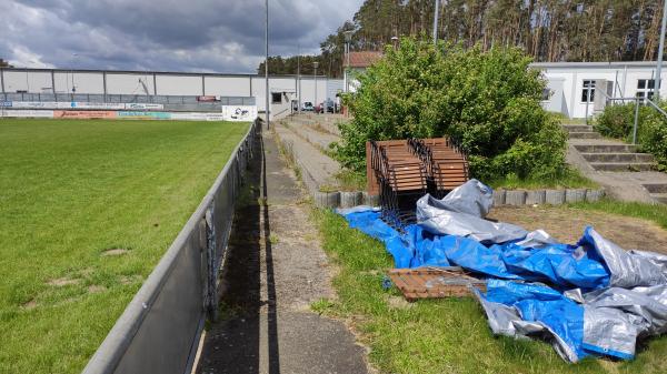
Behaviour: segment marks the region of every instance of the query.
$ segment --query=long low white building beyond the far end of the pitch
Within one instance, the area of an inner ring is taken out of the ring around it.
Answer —
[[[253,97],[265,111],[265,88],[257,74],[0,68],[2,93]],[[316,103],[342,89],[342,80],[326,77],[269,77],[271,114],[289,111],[299,90],[301,102]]]

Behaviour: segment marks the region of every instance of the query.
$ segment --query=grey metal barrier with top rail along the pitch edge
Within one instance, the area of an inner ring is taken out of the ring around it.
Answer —
[[[251,124],[197,211],[88,362],[84,374],[182,374],[191,370],[203,322],[216,317],[218,273],[259,127],[258,121]]]

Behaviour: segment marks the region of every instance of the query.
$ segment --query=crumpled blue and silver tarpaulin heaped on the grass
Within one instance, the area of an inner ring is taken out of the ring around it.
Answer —
[[[487,292],[476,294],[494,333],[546,333],[571,362],[589,354],[633,358],[637,337],[667,331],[667,256],[626,252],[593,228],[571,245],[544,231],[489,223],[490,199],[476,180],[442,200],[427,194],[417,203],[418,224],[402,232],[377,209],[339,213],[380,240],[396,267],[461,266],[487,279]]]

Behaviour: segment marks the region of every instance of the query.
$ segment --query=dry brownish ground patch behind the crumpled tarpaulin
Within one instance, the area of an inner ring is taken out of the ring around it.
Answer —
[[[587,225],[626,250],[667,254],[667,231],[657,224],[605,212],[556,206],[502,206],[489,218],[518,224],[526,230],[544,229],[563,243],[576,244]]]

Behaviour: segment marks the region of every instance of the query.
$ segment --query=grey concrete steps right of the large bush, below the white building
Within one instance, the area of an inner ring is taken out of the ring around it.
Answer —
[[[581,156],[596,171],[651,171],[655,160],[648,153],[638,153],[635,145],[621,142],[600,142],[603,137],[590,125],[566,124],[563,127]]]

